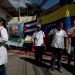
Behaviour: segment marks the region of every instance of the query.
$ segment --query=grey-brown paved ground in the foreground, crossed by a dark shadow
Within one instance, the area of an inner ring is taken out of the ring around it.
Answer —
[[[47,70],[49,65],[47,60],[43,60],[41,64],[36,64],[34,58],[28,56],[20,57],[19,55],[10,54],[6,64],[7,75],[72,75],[70,71],[72,68],[67,66],[67,64],[63,64],[63,73],[58,70],[52,72],[50,69]]]

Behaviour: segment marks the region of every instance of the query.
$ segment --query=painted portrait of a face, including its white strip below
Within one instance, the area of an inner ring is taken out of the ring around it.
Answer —
[[[22,46],[23,45],[23,25],[22,22],[8,22],[7,29],[9,34],[8,45]]]

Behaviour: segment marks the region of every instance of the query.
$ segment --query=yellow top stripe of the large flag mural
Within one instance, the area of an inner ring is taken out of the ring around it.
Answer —
[[[49,13],[45,16],[38,18],[38,21],[41,20],[41,24],[44,25],[44,24],[62,19],[64,17],[75,16],[74,9],[75,9],[75,4],[68,4],[68,5],[65,5],[65,6],[59,8],[58,10],[56,10],[52,13]]]

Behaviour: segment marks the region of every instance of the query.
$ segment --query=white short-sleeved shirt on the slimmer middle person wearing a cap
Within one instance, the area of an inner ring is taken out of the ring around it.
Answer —
[[[35,46],[42,46],[42,44],[44,44],[44,39],[43,39],[44,37],[45,37],[45,34],[43,31],[40,30],[40,31],[34,32],[33,39],[35,39],[34,40]]]

